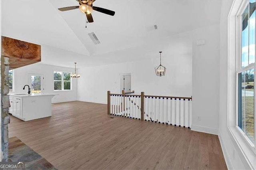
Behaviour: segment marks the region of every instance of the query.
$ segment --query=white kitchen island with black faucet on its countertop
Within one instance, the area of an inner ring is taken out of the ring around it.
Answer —
[[[57,94],[32,93],[30,95],[8,95],[11,105],[9,112],[23,121],[30,121],[52,116],[52,97]]]

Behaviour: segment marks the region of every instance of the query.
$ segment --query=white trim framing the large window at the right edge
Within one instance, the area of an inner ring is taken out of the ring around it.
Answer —
[[[234,0],[232,7],[230,9],[230,13],[228,15],[228,133],[230,134],[230,139],[234,141],[234,146],[238,146],[238,152],[242,154],[238,154],[244,164],[250,166],[251,169],[256,169],[256,156],[255,156],[255,149],[252,150],[248,143],[245,141],[245,138],[239,133],[238,129],[236,128],[237,124],[237,105],[236,101],[238,101],[238,94],[237,94],[237,81],[236,75],[238,68],[240,66],[240,57],[238,59],[238,55],[240,56],[240,36],[237,30],[240,24],[237,23],[237,17],[241,14],[242,7],[246,6],[248,0]],[[239,46],[238,46],[239,45]],[[248,66],[250,67],[250,66]],[[240,71],[240,68],[239,68]],[[222,145],[224,145],[222,141]],[[226,152],[225,149],[222,149]],[[224,153],[224,155],[227,155]]]

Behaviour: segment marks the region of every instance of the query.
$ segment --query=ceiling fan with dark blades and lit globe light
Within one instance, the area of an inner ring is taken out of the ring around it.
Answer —
[[[76,0],[76,1],[79,2],[80,6],[68,6],[68,7],[64,7],[64,8],[58,8],[58,10],[68,11],[68,10],[74,10],[74,9],[79,8],[82,13],[86,14],[86,18],[87,18],[88,22],[93,22],[93,18],[92,18],[92,14],[91,14],[92,10],[102,12],[104,14],[108,14],[111,16],[114,16],[114,14],[115,14],[114,11],[96,7],[96,6],[92,6],[92,3],[95,0]]]

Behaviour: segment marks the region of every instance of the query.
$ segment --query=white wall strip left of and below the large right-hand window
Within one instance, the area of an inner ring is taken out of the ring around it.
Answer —
[[[228,130],[228,13],[233,0],[222,0],[220,17],[220,101],[219,138],[230,169],[250,169],[240,148]]]

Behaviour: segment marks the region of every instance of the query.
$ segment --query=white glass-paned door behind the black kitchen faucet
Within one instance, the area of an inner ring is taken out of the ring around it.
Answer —
[[[44,75],[29,74],[28,82],[31,93],[42,93],[44,91]]]

